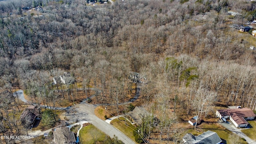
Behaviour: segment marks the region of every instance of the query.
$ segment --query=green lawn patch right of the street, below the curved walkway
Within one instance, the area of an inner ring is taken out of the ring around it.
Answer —
[[[132,139],[135,142],[135,137],[133,136],[133,130],[136,128],[133,126],[130,122],[126,120],[126,125],[123,117],[119,117],[118,119],[114,119],[110,122],[115,128],[120,130],[122,133],[124,133],[126,136],[128,136],[130,139]]]

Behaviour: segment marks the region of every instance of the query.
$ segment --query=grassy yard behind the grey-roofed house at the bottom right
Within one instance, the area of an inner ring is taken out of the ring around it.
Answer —
[[[202,123],[198,126],[196,130],[189,129],[186,131],[186,133],[192,133],[196,136],[208,130],[216,132],[221,139],[226,140],[226,144],[232,143],[233,133],[230,132],[229,130],[226,130],[226,128],[224,128],[223,126],[220,126],[219,124],[216,124],[216,123],[210,123],[210,124]],[[236,143],[247,144],[247,142],[242,140],[242,138],[238,138],[238,141]]]

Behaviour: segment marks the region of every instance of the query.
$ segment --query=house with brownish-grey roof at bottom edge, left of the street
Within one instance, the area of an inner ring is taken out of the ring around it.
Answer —
[[[76,144],[74,132],[68,127],[56,128],[53,132],[55,144]]]

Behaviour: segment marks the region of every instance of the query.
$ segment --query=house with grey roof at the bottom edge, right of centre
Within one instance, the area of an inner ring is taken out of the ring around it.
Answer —
[[[216,132],[208,130],[199,136],[194,136],[191,133],[185,134],[183,142],[184,144],[220,144],[222,140]]]

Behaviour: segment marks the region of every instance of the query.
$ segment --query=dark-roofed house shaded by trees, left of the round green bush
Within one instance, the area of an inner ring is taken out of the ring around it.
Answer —
[[[36,119],[40,119],[40,108],[36,106],[28,106],[20,115],[20,122],[24,128],[32,128]]]

